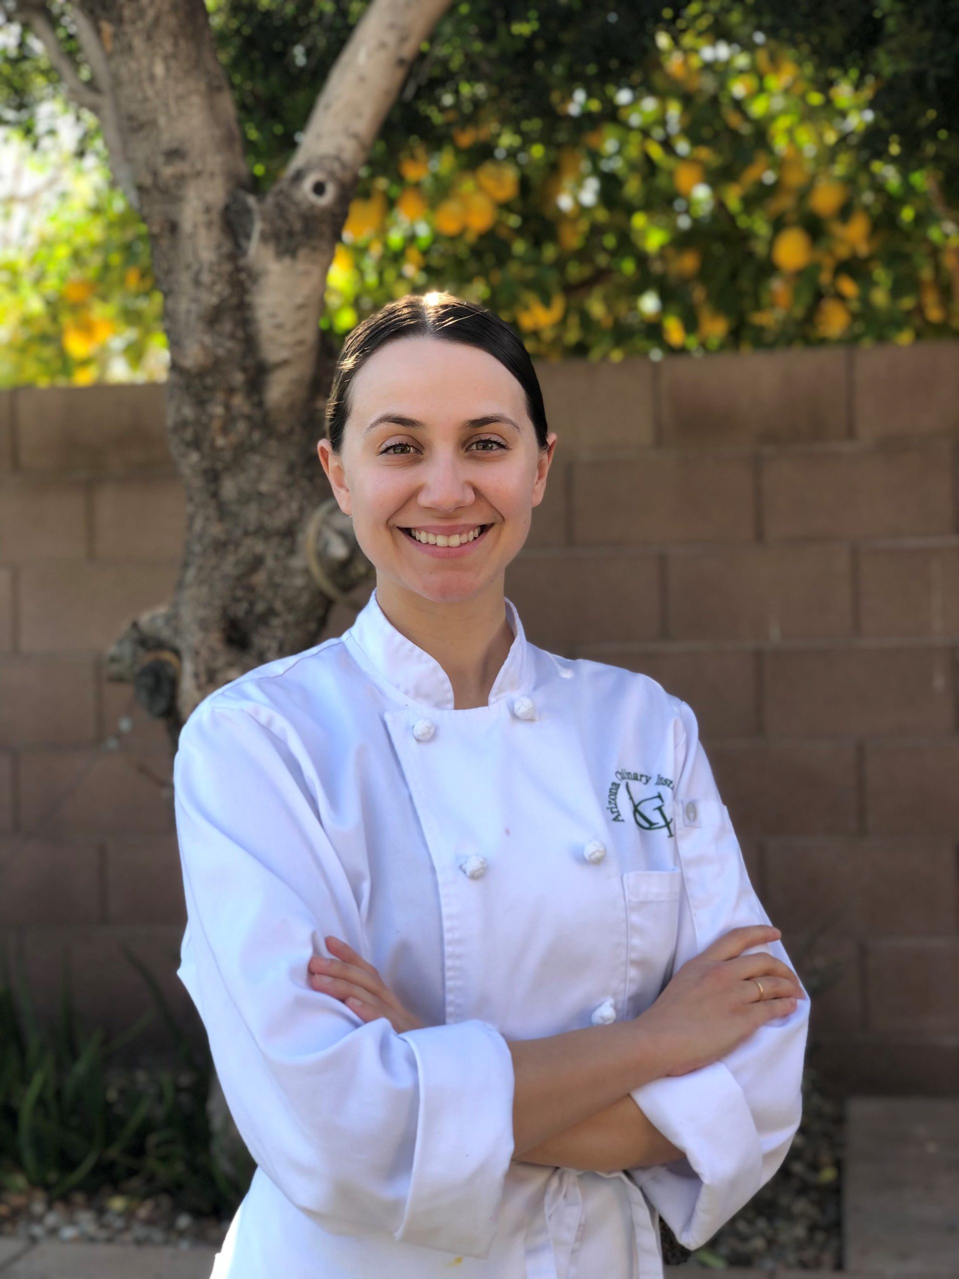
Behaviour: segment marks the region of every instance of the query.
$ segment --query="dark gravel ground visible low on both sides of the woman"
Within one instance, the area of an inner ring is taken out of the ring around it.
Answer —
[[[753,1266],[839,1270],[843,1100],[826,1094],[815,1071],[803,1082],[803,1120],[785,1163],[758,1195],[690,1253],[662,1223],[666,1264],[696,1260],[712,1269]],[[0,1192],[0,1236],[93,1243],[220,1247],[229,1221],[194,1218],[168,1195],[138,1200],[106,1189],[74,1191],[51,1204],[42,1191]]]

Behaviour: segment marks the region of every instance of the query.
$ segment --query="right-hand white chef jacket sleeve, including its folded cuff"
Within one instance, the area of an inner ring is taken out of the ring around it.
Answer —
[[[770,923],[685,702],[676,743],[675,838],[683,897],[674,972],[707,945],[745,923]],[[693,821],[683,808],[696,803]],[[793,964],[781,941],[751,946]],[[807,993],[808,994],[808,993]],[[687,1248],[706,1243],[772,1177],[802,1117],[802,1076],[809,1000],[767,1022],[720,1060],[688,1074],[653,1079],[630,1094],[685,1159],[629,1169]]]

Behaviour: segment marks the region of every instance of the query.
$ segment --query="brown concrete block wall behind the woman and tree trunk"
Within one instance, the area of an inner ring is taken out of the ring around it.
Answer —
[[[531,640],[693,707],[786,948],[835,978],[830,1076],[955,1091],[959,343],[537,371],[559,444],[506,577]],[[129,701],[100,654],[182,537],[162,388],[0,398],[0,858],[42,825],[0,927],[43,998],[69,944],[116,1028],[142,1004],[116,941],[162,967],[183,904],[166,739],[134,710],[98,746]]]

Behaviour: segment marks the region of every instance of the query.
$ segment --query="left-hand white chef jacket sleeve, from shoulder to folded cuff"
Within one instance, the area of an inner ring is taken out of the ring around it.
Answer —
[[[202,703],[174,764],[188,907],[179,976],[239,1132],[290,1202],[334,1234],[486,1257],[513,1155],[513,1060],[472,1019],[398,1035],[312,990],[350,881],[318,817],[313,765],[267,709]]]

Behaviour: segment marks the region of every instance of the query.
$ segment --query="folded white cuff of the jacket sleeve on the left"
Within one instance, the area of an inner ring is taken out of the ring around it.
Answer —
[[[404,1031],[419,1073],[407,1210],[394,1238],[486,1259],[496,1234],[513,1138],[513,1054],[472,1018]]]

